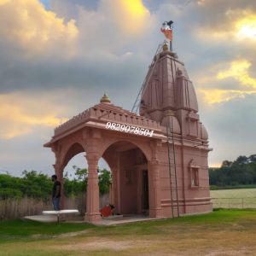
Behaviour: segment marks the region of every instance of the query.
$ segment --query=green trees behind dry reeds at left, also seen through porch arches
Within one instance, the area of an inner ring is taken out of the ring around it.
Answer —
[[[69,179],[66,172],[63,178],[64,194],[76,196],[84,193],[87,188],[88,170],[73,166],[74,178]],[[111,173],[106,169],[98,169],[100,194],[108,194]],[[37,171],[24,171],[21,177],[0,174],[0,199],[20,199],[25,196],[49,201],[53,183],[51,177]]]

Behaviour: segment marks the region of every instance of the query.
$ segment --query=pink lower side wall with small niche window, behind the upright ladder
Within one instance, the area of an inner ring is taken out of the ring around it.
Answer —
[[[172,149],[172,145],[171,145]],[[183,152],[182,152],[183,151]],[[209,201],[209,177],[207,167],[207,152],[198,148],[182,148],[176,146],[176,171],[177,171],[177,193],[179,201],[179,212],[209,212],[212,211],[212,205]],[[171,150],[171,166],[172,166],[172,184],[174,179],[173,154]],[[171,210],[171,189],[169,164],[167,158],[167,146],[163,145],[159,152],[160,159],[160,190],[161,190],[161,207],[165,217],[172,217]],[[191,184],[191,168],[189,164],[191,160],[198,165],[198,186],[192,187]],[[176,206],[175,185],[172,185],[173,204]],[[174,207],[174,215],[177,215],[177,207]]]

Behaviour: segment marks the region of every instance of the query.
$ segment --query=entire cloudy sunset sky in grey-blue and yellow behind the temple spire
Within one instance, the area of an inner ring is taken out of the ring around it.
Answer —
[[[209,166],[256,154],[254,0],[0,0],[0,172],[54,172],[43,144],[104,92],[131,110],[165,20],[195,86]]]

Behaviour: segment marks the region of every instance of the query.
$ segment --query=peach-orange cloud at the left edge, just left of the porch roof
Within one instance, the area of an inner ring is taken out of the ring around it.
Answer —
[[[0,139],[32,133],[37,125],[52,128],[60,125],[67,118],[58,117],[58,111],[42,99],[17,93],[0,95],[0,119],[4,124],[0,126]]]

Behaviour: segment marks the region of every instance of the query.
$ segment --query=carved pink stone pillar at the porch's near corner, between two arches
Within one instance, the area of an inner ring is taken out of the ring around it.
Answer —
[[[98,185],[98,156],[96,153],[86,154],[88,163],[88,183],[86,192],[86,213],[84,220],[88,222],[98,222],[101,219],[99,212],[99,185]]]

